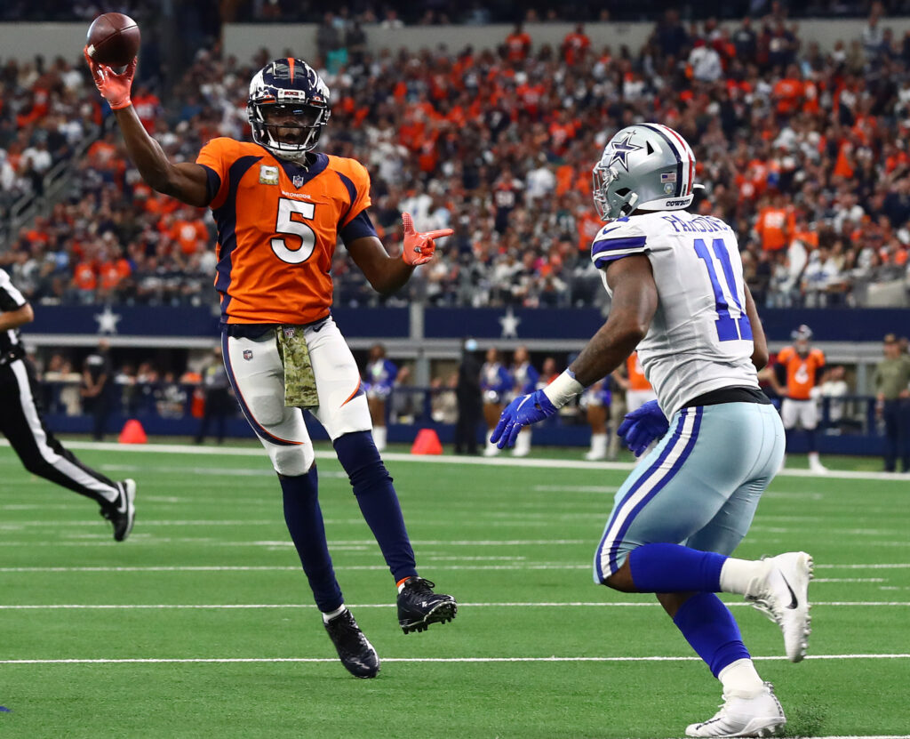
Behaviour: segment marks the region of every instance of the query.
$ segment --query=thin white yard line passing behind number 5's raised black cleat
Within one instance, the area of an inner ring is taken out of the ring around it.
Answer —
[[[397,608],[395,603],[347,604],[351,611],[367,608]],[[728,602],[731,608],[751,608],[747,602]],[[910,602],[896,601],[823,601],[817,606],[854,608],[910,607]],[[621,602],[464,602],[460,608],[659,608],[655,601]],[[290,608],[315,610],[315,603],[5,603],[0,611],[258,611]]]

